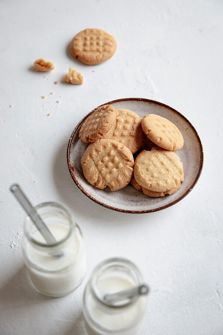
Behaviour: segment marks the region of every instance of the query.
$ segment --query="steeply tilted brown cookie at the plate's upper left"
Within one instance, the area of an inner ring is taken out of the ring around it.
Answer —
[[[79,139],[83,143],[92,143],[105,135],[116,120],[116,110],[111,105],[96,109],[87,117],[79,131]]]

